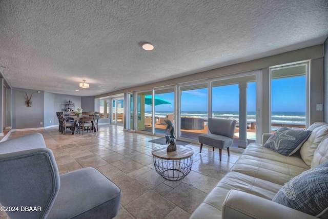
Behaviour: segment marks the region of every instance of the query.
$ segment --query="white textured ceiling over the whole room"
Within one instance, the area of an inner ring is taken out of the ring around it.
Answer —
[[[10,86],[78,96],[318,45],[327,36],[326,0],[0,1],[0,66]],[[143,42],[155,49],[142,50]],[[89,89],[78,88],[83,79]]]

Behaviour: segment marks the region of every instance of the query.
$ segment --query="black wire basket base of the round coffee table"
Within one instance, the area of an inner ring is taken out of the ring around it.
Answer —
[[[165,160],[154,156],[156,171],[166,180],[177,181],[188,175],[193,165],[193,157],[181,160]]]

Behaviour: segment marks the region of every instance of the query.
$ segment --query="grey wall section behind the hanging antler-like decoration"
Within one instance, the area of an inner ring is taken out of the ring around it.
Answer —
[[[12,88],[12,128],[26,129],[44,127],[44,91],[34,93],[31,99],[32,106],[25,105],[25,91],[30,95],[37,90]],[[43,124],[40,124],[43,123]]]

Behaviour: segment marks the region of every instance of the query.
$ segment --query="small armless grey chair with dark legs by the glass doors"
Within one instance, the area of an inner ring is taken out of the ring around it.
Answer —
[[[200,152],[203,144],[219,149],[220,161],[222,149],[227,148],[228,156],[230,156],[229,147],[232,145],[236,121],[235,120],[224,120],[222,118],[209,118],[208,121],[209,134],[201,134],[198,136],[200,143]]]

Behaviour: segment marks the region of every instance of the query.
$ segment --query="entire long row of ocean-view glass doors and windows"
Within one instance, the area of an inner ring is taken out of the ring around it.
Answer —
[[[260,143],[271,126],[272,131],[305,128],[307,71],[308,63],[302,63],[139,91],[130,113],[136,111],[137,130],[152,134],[168,134],[163,120],[171,120],[180,140],[197,141],[199,134],[208,133],[208,117],[236,120],[234,144],[246,147]]]

